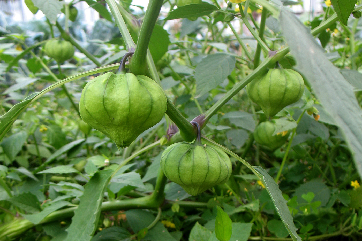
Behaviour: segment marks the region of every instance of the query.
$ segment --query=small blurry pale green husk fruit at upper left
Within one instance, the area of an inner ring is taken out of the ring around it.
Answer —
[[[74,47],[71,42],[62,39],[51,39],[45,43],[44,52],[58,63],[70,59],[74,55]]]

